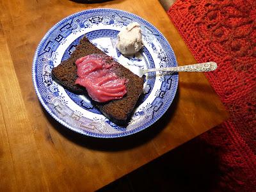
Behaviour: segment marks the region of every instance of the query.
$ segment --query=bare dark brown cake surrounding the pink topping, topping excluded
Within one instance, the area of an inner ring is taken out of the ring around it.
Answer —
[[[86,89],[83,86],[75,84],[77,79],[76,60],[88,54],[105,54],[95,47],[85,36],[80,40],[76,50],[71,54],[70,58],[62,61],[58,67],[52,69],[52,77],[58,83],[62,84],[71,92],[78,94],[86,94]],[[106,55],[106,54],[105,54]],[[113,59],[111,59],[113,60]],[[116,62],[116,61],[115,61]],[[134,106],[143,91],[143,77],[138,77],[129,69],[123,67],[116,62],[112,69],[118,77],[127,79],[127,93],[122,99],[111,100],[109,102],[95,102],[93,104],[107,116],[112,122],[118,125],[125,125],[131,118]]]

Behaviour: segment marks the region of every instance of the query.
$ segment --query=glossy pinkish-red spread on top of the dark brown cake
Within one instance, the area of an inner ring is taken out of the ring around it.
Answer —
[[[76,60],[76,84],[84,86],[88,95],[97,102],[122,99],[127,92],[127,80],[111,71],[115,64],[107,63],[106,61],[110,61],[108,59],[108,56],[90,54]]]

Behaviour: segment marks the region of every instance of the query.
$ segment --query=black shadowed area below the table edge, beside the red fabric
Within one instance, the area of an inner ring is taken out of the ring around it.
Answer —
[[[221,148],[197,137],[98,192],[222,191],[220,154]]]

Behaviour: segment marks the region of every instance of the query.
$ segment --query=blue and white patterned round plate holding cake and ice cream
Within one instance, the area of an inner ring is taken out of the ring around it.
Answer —
[[[141,24],[144,47],[134,56],[125,58],[116,50],[116,36],[131,22]],[[154,124],[175,97],[177,74],[147,74],[145,94],[139,100],[127,127],[120,127],[109,121],[91,104],[90,99],[68,92],[52,80],[52,68],[68,59],[84,35],[121,64],[142,68],[177,66],[172,47],[166,38],[152,24],[137,15],[113,9],[93,9],[75,13],[53,26],[35,52],[33,83],[46,111],[68,129],[98,138],[127,136]]]

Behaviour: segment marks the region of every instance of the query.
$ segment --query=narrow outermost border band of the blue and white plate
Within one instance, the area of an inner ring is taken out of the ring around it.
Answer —
[[[52,113],[51,109],[49,109],[49,107],[45,104],[45,102],[44,102],[44,100],[42,98],[42,95],[40,94],[40,92],[38,91],[38,87],[36,86],[35,67],[36,67],[36,60],[38,58],[38,52],[40,51],[40,48],[42,47],[42,45],[44,45],[44,41],[47,40],[47,38],[51,34],[51,32],[54,31],[54,29],[57,28],[62,22],[65,22],[66,20],[71,19],[72,17],[76,17],[77,15],[88,14],[88,13],[90,14],[90,12],[106,12],[106,11],[108,11],[108,12],[109,11],[124,12],[124,13],[126,13],[128,15],[132,15],[135,18],[143,20],[143,22],[145,22],[148,26],[150,26],[151,28],[154,28],[159,33],[159,36],[161,36],[163,41],[167,42],[168,46],[170,46],[170,50],[168,50],[168,51],[170,51],[170,53],[173,56],[174,65],[177,66],[176,56],[175,56],[175,53],[173,52],[173,49],[172,49],[170,43],[165,38],[165,36],[161,33],[161,31],[159,31],[159,29],[157,29],[155,26],[150,24],[150,22],[148,22],[147,20],[141,18],[138,15],[135,15],[134,13],[127,12],[127,11],[124,11],[124,10],[118,10],[118,9],[113,9],[113,8],[93,8],[93,9],[83,10],[81,12],[76,12],[76,13],[73,13],[72,15],[68,15],[67,17],[64,17],[59,22],[54,24],[54,26],[52,26],[51,29],[49,29],[47,31],[47,33],[44,35],[42,40],[40,40],[40,43],[36,47],[35,56],[33,58],[33,64],[32,64],[32,80],[33,80],[33,85],[34,85],[34,88],[35,88],[35,91],[36,91],[36,95],[37,95],[38,99],[40,100],[40,103],[42,104],[42,106],[44,106],[44,109],[47,111],[47,113],[49,113],[49,115],[51,115],[52,118],[54,118],[61,125],[67,127],[68,129],[70,129],[70,130],[72,130],[74,132],[77,132],[79,134],[83,134],[85,136],[92,136],[94,138],[120,138],[120,137],[124,137],[124,136],[129,136],[131,134],[135,134],[136,132],[140,132],[140,131],[143,131],[144,129],[147,129],[151,125],[155,124],[157,122],[157,120],[159,120],[159,118],[161,118],[164,115],[164,113],[166,113],[168,108],[170,108],[170,106],[171,106],[171,104],[173,102],[173,99],[175,98],[175,95],[177,93],[177,88],[178,88],[178,84],[179,84],[179,75],[178,74],[176,74],[174,76],[175,83],[174,83],[174,86],[173,86],[173,95],[170,95],[170,98],[169,98],[170,102],[166,105],[166,108],[161,110],[160,115],[158,115],[158,116],[156,116],[156,118],[154,118],[153,122],[149,121],[149,122],[146,122],[145,124],[143,124],[143,126],[137,127],[136,129],[132,129],[132,130],[124,132],[124,133],[121,132],[121,133],[115,133],[115,134],[99,134],[99,133],[93,133],[93,132],[88,132],[88,131],[80,131],[80,130],[75,129],[71,125],[68,125],[67,123],[65,123],[65,121],[61,120],[60,118],[58,118],[58,116],[56,116],[56,115],[54,115],[54,113]]]

